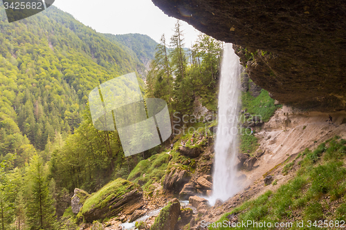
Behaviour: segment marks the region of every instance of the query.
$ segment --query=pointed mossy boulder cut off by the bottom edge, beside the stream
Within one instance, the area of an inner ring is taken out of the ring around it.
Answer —
[[[179,215],[180,202],[178,199],[174,199],[161,210],[150,230],[174,230]]]

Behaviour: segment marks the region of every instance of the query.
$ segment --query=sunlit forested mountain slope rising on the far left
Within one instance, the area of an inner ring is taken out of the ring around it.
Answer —
[[[0,31],[0,155],[17,153],[17,165],[33,146],[50,149],[74,132],[90,90],[138,68],[120,46],[54,6],[15,23],[2,9]]]

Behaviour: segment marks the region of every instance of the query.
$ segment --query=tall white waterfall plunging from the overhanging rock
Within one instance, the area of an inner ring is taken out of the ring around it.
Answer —
[[[239,75],[241,66],[232,44],[226,44],[221,63],[219,111],[215,141],[215,163],[210,204],[227,200],[239,190],[237,182],[237,115],[239,113]]]

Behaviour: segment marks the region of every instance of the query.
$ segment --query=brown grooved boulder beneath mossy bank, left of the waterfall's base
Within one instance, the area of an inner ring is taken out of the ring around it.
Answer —
[[[181,191],[183,185],[190,180],[190,175],[185,170],[171,169],[169,174],[166,174],[163,180],[163,189],[171,191]]]

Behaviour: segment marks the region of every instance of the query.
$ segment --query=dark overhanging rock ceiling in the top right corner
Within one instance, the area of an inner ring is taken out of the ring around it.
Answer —
[[[167,15],[235,44],[249,77],[279,102],[346,108],[345,1],[152,1]]]

